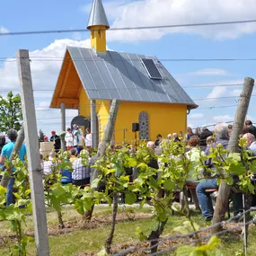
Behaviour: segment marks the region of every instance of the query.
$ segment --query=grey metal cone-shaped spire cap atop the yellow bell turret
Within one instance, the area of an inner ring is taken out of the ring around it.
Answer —
[[[91,30],[93,26],[105,26],[110,28],[107,15],[105,13],[102,0],[93,0],[93,6],[90,13],[87,29]]]

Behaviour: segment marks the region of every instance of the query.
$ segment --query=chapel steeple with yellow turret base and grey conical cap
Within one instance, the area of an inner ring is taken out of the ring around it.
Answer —
[[[110,28],[102,0],[93,0],[87,29],[91,31],[91,47],[98,52],[106,52],[106,31]]]

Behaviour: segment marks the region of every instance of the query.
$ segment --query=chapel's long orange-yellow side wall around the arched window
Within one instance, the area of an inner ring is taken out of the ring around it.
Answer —
[[[138,115],[146,111],[149,122],[149,139],[155,140],[158,134],[167,137],[169,133],[184,134],[187,121],[187,106],[165,103],[120,102],[115,127],[115,142],[123,141],[123,129],[127,128],[126,141],[134,139],[132,123],[138,122]]]

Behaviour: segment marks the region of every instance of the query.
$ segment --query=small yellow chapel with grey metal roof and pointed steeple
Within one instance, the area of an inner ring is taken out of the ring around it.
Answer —
[[[120,101],[115,144],[134,139],[133,123],[139,124],[138,137],[146,140],[184,133],[187,113],[198,105],[161,61],[107,50],[110,25],[102,0],[93,0],[87,28],[91,49],[66,47],[50,107],[78,110],[80,118],[91,120],[93,146],[102,139],[113,99]]]

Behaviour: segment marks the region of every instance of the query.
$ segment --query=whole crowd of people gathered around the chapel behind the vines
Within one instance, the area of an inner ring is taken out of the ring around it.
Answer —
[[[72,164],[73,172],[70,170],[60,170],[61,172],[61,183],[63,185],[68,183],[73,183],[76,186],[84,188],[84,186],[90,184],[90,179],[92,175],[92,166],[95,160],[95,157],[90,158],[88,166],[84,166],[82,163],[82,158],[79,157],[81,149],[84,148],[84,143],[88,152],[92,146],[92,135],[89,129],[86,129],[86,134],[83,136],[81,128],[74,125],[74,129],[71,130],[67,128],[66,130],[66,150],[68,152],[66,161]],[[181,140],[187,141],[187,152],[186,157],[190,158],[191,168],[188,175],[188,181],[186,185],[194,187],[196,190],[191,190],[192,199],[196,205],[196,208],[200,209],[202,216],[206,217],[206,220],[211,220],[214,215],[214,207],[212,204],[212,198],[210,193],[207,192],[209,189],[218,189],[217,185],[217,174],[213,176],[210,172],[201,172],[195,176],[195,166],[199,164],[201,154],[209,154],[210,148],[216,147],[216,145],[221,144],[224,148],[227,148],[229,138],[232,134],[232,125],[227,125],[225,123],[216,124],[213,131],[208,128],[198,128],[193,132],[191,128],[187,128],[186,137],[179,137],[177,133],[169,134],[166,138],[163,138],[160,134],[157,135],[155,141],[148,141],[147,147],[149,147],[153,154],[161,155],[162,154],[162,144],[165,141],[173,140],[175,143],[179,143]],[[14,129],[10,129],[7,132],[7,137],[9,143],[2,145],[2,152],[0,156],[0,164],[4,165],[4,160],[9,159],[15,141],[17,139],[18,133]],[[247,141],[247,147],[252,151],[253,155],[256,155],[256,128],[252,125],[252,121],[247,120],[243,128],[243,138]],[[46,138],[46,141],[48,138]],[[56,159],[56,154],[60,148],[59,146],[59,137],[56,135],[55,131],[52,131],[52,136],[50,140],[54,142],[55,151],[52,151],[48,157],[41,156],[41,166],[43,171],[43,176],[50,174],[53,171],[53,168],[56,167],[55,164],[58,164]],[[115,146],[110,146],[110,151],[115,151]],[[22,145],[22,148],[19,152],[19,158],[22,162],[26,159],[26,146]],[[159,158],[161,159],[161,157]],[[159,169],[161,164],[160,160],[157,160],[157,157],[150,159],[148,166],[154,169]],[[205,163],[208,168],[214,169],[215,164],[211,162],[211,159],[208,158]],[[15,170],[13,170],[15,171]],[[137,178],[137,170],[128,170],[130,176],[132,177],[131,181]],[[197,172],[198,173],[198,172]],[[238,176],[233,176],[234,184],[239,182]],[[14,177],[8,183],[7,194],[6,194],[6,204],[9,205],[13,203],[13,182]],[[234,204],[234,215],[239,214],[243,210],[242,204],[242,193],[236,192],[232,194],[233,204]]]

